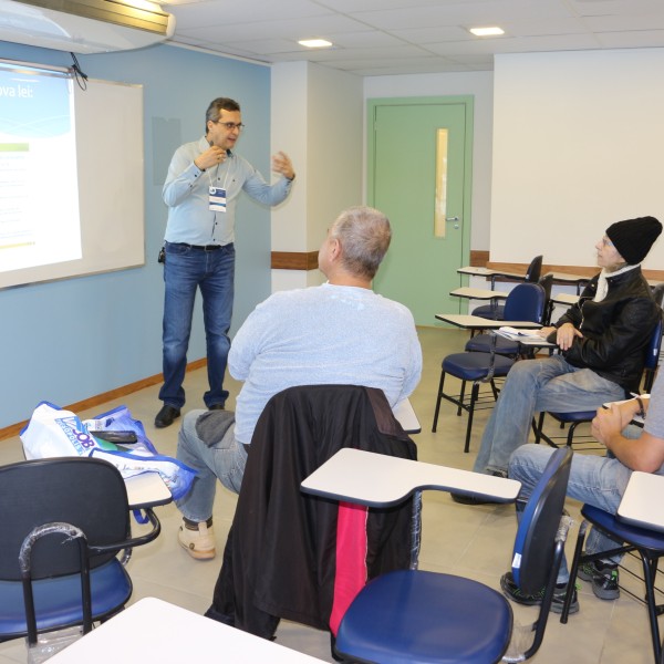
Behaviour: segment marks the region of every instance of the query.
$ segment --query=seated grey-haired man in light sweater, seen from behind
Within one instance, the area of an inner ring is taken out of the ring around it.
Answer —
[[[238,330],[228,355],[230,374],[243,381],[236,413],[191,411],[179,432],[177,458],[198,471],[177,501],[184,517],[178,539],[193,558],[216,554],[217,479],[239,492],[253,428],[270,397],[295,385],[354,384],[381,388],[394,408],[415,390],[422,349],[413,315],[371,289],[391,237],[378,210],[344,210],[319,251],[328,282],[272,294]]]

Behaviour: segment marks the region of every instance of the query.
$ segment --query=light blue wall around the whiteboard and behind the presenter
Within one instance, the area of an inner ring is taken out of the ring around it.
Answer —
[[[65,52],[8,42],[0,42],[0,58],[60,66],[72,62]],[[163,136],[159,127],[167,126],[177,143],[197,139],[208,103],[231,96],[240,102],[248,127],[238,152],[267,178],[270,173],[268,68],[166,45],[79,55],[79,62],[92,79],[144,86],[146,264],[0,290],[0,428],[28,419],[42,400],[64,406],[162,371],[164,288],[156,257],[166,221],[162,175],[172,149],[154,145],[154,127]],[[98,131],[104,127],[102,116]],[[103,155],[98,166],[102,190]],[[234,330],[270,294],[270,212],[241,198]],[[195,319],[189,361],[205,356],[200,302]],[[191,395],[188,405],[201,407],[200,395]]]

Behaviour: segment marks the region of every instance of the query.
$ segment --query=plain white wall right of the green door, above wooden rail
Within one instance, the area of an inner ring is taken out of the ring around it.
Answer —
[[[663,80],[664,49],[496,56],[491,260],[592,266],[613,221],[664,220]]]

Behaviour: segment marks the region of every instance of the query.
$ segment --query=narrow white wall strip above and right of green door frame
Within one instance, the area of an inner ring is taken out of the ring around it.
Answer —
[[[470,248],[488,250],[491,205],[492,72],[369,76],[364,79],[365,101],[376,97],[460,94],[475,97]],[[366,113],[366,103],[364,112]],[[366,121],[364,126],[366,126]],[[408,139],[408,127],[404,127],[402,139]],[[366,168],[363,173],[366,174]],[[363,187],[363,191],[366,191],[366,186]]]

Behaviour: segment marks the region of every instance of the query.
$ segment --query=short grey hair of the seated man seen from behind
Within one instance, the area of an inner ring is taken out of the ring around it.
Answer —
[[[341,260],[349,272],[373,279],[390,247],[392,228],[380,210],[356,206],[336,217],[330,237],[341,243]]]

